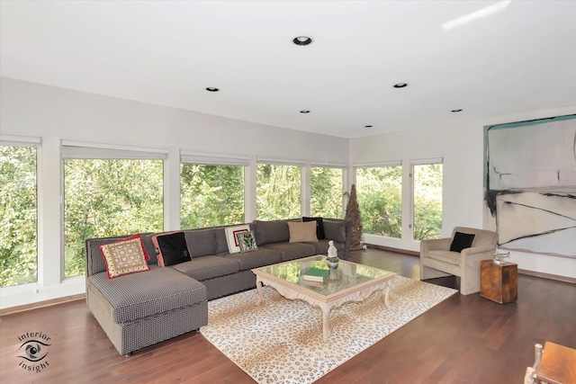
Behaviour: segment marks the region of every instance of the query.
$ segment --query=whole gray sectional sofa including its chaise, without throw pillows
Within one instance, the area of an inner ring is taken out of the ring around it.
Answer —
[[[157,265],[153,234],[142,234],[150,271],[109,279],[100,246],[127,236],[85,241],[86,303],[119,353],[129,355],[208,324],[208,300],[256,287],[253,268],[310,255],[326,255],[329,240],[347,260],[351,222],[324,219],[326,239],[290,243],[288,219],[255,220],[258,249],[230,254],[225,227],[184,230],[189,262]],[[292,221],[299,221],[293,219]]]

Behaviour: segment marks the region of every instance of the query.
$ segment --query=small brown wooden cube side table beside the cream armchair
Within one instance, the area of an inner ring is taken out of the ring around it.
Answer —
[[[497,303],[512,303],[518,299],[518,264],[480,262],[480,296]]]

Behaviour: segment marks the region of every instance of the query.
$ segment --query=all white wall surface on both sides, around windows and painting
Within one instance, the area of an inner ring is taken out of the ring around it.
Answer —
[[[418,129],[369,138],[335,138],[236,121],[197,112],[131,102],[95,94],[0,78],[0,134],[42,138],[39,151],[39,272],[38,284],[0,289],[0,308],[55,299],[85,290],[84,277],[58,278],[62,238],[59,142],[61,139],[121,146],[169,149],[168,178],[178,169],[178,149],[215,154],[288,158],[346,165],[444,157],[444,222],[446,236],[456,225],[482,227],[482,127],[576,112],[576,106],[554,111],[506,116],[494,121],[470,121],[454,126]],[[176,171],[177,172],[177,171]],[[254,173],[254,172],[253,172]],[[251,179],[255,178],[252,174]],[[252,180],[251,183],[255,183]],[[405,181],[407,183],[407,181]],[[179,225],[179,190],[166,193],[166,228]],[[404,197],[406,210],[408,197]],[[256,198],[248,199],[256,211]],[[248,220],[249,215],[248,215]],[[408,220],[402,231],[408,233]],[[366,238],[367,242],[419,249],[408,239]],[[576,261],[554,256],[512,253],[522,269],[576,278]],[[61,272],[60,272],[61,273]]]

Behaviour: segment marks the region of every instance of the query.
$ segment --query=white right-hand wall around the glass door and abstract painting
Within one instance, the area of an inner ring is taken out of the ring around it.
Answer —
[[[449,237],[455,226],[489,228],[490,220],[484,219],[483,201],[483,127],[514,121],[527,121],[576,112],[576,106],[549,111],[529,112],[502,116],[498,119],[468,121],[460,124],[429,129],[414,129],[368,138],[350,139],[351,165],[373,164],[386,161],[402,161],[409,166],[410,160],[444,157],[444,201],[442,230]],[[410,180],[404,178],[404,185]],[[419,250],[419,242],[411,240],[410,188],[402,192],[401,239],[365,236],[367,243]],[[485,224],[486,223],[486,224]],[[576,259],[550,255],[510,252],[510,259],[518,268],[527,271],[549,273],[576,278]]]

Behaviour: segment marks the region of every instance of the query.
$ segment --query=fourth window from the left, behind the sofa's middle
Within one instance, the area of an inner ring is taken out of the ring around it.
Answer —
[[[297,218],[301,209],[301,171],[298,165],[257,165],[257,219]]]

